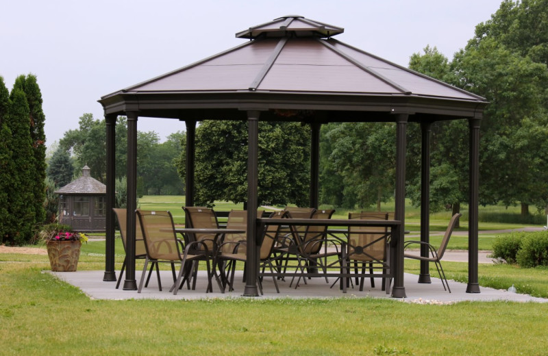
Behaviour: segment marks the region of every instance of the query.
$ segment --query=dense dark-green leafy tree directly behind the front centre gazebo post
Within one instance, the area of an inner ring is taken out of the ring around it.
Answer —
[[[260,122],[258,145],[258,203],[308,205],[310,127]],[[184,155],[177,161],[179,173]],[[247,122],[208,120],[197,127],[195,182],[199,205],[247,201]]]

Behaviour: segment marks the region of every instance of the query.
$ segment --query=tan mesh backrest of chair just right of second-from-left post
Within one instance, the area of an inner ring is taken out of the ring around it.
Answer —
[[[137,216],[149,258],[160,261],[180,260],[181,251],[171,213],[137,209]]]

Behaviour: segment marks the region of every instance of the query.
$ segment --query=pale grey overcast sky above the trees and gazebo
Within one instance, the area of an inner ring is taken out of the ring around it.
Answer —
[[[501,0],[0,0],[0,76],[11,90],[33,73],[42,90],[47,145],[103,117],[103,95],[241,44],[238,31],[284,15],[343,27],[336,38],[408,66],[429,44],[449,60]],[[163,140],[184,129],[140,118]]]

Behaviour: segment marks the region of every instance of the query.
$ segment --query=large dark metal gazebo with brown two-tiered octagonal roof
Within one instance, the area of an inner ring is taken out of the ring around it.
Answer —
[[[245,296],[257,296],[256,216],[258,205],[258,121],[297,120],[311,127],[310,206],[318,207],[319,129],[329,122],[393,122],[397,129],[392,296],[405,297],[403,223],[405,222],[406,129],[421,125],[421,240],[429,234],[429,133],[438,120],[469,121],[469,281],[477,283],[477,193],[479,123],[487,102],[470,92],[351,47],[333,38],[344,29],[303,16],[276,18],[236,34],[241,45],[105,95],[99,102],[107,123],[107,247],[104,281],[114,272],[114,138],[116,117],[127,116],[127,209],[136,209],[136,140],[140,117],[174,118],[186,123],[186,205],[194,205],[195,127],[201,120],[247,120],[247,254]],[[125,290],[135,290],[135,215],[127,214]],[[132,252],[133,251],[133,252]],[[426,251],[422,251],[426,253]],[[419,282],[428,283],[427,264]]]

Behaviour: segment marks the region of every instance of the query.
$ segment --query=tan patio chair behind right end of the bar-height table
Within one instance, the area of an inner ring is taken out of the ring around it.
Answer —
[[[361,212],[349,213],[349,219],[360,220],[388,220],[386,212]],[[386,227],[360,227],[351,226],[348,229],[348,258],[354,263],[354,270],[358,274],[358,266],[362,265],[362,274],[366,266],[369,266],[369,273],[373,275],[373,267],[382,265],[382,272],[386,274],[388,251],[388,229]],[[363,231],[363,232],[362,232]],[[356,285],[360,285],[360,291],[364,288],[364,277],[356,277]],[[375,288],[375,279],[371,276],[371,288]],[[382,290],[386,288],[386,278],[382,279]]]

